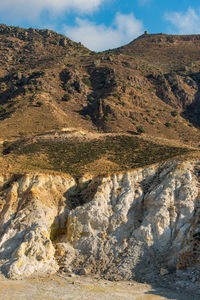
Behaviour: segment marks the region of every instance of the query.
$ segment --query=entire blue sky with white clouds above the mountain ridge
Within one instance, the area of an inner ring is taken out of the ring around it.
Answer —
[[[0,0],[0,23],[48,28],[94,51],[149,33],[200,33],[200,0]]]

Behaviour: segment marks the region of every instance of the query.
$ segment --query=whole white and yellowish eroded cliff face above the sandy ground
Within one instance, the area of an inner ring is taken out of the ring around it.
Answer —
[[[0,178],[0,263],[10,278],[62,268],[114,279],[199,263],[197,162],[107,178]],[[151,270],[151,272],[150,272]]]

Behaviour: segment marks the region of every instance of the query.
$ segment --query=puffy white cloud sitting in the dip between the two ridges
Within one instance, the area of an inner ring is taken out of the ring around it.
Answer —
[[[118,13],[111,26],[97,25],[86,19],[76,18],[76,26],[66,26],[65,34],[94,51],[116,48],[141,35],[143,24],[131,13]]]

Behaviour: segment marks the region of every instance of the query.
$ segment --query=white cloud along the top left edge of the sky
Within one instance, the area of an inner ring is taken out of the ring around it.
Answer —
[[[8,20],[31,20],[43,11],[60,14],[66,10],[89,13],[109,0],[1,0],[0,14]]]

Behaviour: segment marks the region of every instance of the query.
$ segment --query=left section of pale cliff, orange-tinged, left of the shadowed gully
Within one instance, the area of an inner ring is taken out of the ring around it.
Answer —
[[[2,271],[12,279],[55,273],[58,264],[50,239],[52,224],[65,208],[70,178],[35,175],[3,182],[0,219]]]

